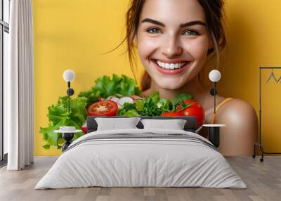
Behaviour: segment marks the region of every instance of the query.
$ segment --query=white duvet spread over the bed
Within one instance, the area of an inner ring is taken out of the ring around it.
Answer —
[[[112,138],[96,135],[184,134],[178,138]],[[226,159],[200,135],[167,129],[95,131],[74,141],[35,189],[102,187],[247,188]]]

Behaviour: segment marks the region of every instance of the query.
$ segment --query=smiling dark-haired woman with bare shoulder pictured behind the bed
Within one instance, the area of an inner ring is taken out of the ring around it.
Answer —
[[[133,70],[137,49],[145,67],[143,96],[159,91],[160,98],[173,99],[190,93],[204,108],[205,123],[227,125],[221,131],[221,153],[251,155],[258,131],[254,108],[217,96],[215,119],[214,97],[200,81],[207,59],[214,53],[219,66],[219,51],[226,46],[223,7],[223,0],[131,0],[126,13],[129,60]]]

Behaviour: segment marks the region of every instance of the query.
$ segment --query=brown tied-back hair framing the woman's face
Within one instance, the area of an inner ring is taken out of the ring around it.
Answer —
[[[219,66],[219,51],[226,46],[226,36],[223,29],[223,11],[224,0],[197,0],[202,6],[206,20],[207,29],[211,34],[211,39],[214,44],[214,48],[208,50],[207,55],[215,53],[216,65]],[[136,66],[136,53],[134,39],[138,32],[138,25],[141,17],[141,11],[145,0],[130,0],[129,10],[126,13],[126,37],[121,44],[127,41],[127,52],[129,56],[129,62],[133,75],[135,76],[134,66]],[[121,45],[119,44],[119,46]],[[117,46],[117,48],[119,47]],[[115,48],[116,49],[116,48]],[[200,76],[200,74],[198,74]],[[136,78],[136,76],[135,76]],[[145,71],[141,79],[141,90],[145,91],[150,88],[151,77],[148,72]]]

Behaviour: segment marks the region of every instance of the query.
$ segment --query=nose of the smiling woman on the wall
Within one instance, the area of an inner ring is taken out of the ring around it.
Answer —
[[[175,56],[181,55],[183,53],[183,48],[180,41],[175,37],[165,39],[162,45],[162,53],[167,58],[174,58]]]

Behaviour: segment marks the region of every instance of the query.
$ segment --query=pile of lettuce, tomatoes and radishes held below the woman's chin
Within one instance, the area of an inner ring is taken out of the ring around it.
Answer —
[[[60,127],[81,128],[86,134],[87,115],[125,117],[195,115],[197,123],[198,119],[199,124],[202,124],[202,119],[204,120],[202,106],[192,100],[190,94],[179,93],[170,101],[160,98],[159,92],[154,91],[150,96],[143,98],[135,80],[125,75],[113,74],[112,78],[106,75],[99,77],[90,90],[81,91],[76,98],[71,97],[70,115],[67,112],[67,98],[67,96],[59,97],[58,103],[48,107],[48,127],[41,127],[39,131],[46,142],[43,146],[45,149],[51,146],[61,148],[64,143],[63,138],[61,134],[53,132]],[[77,133],[74,139],[82,135],[83,133]]]

